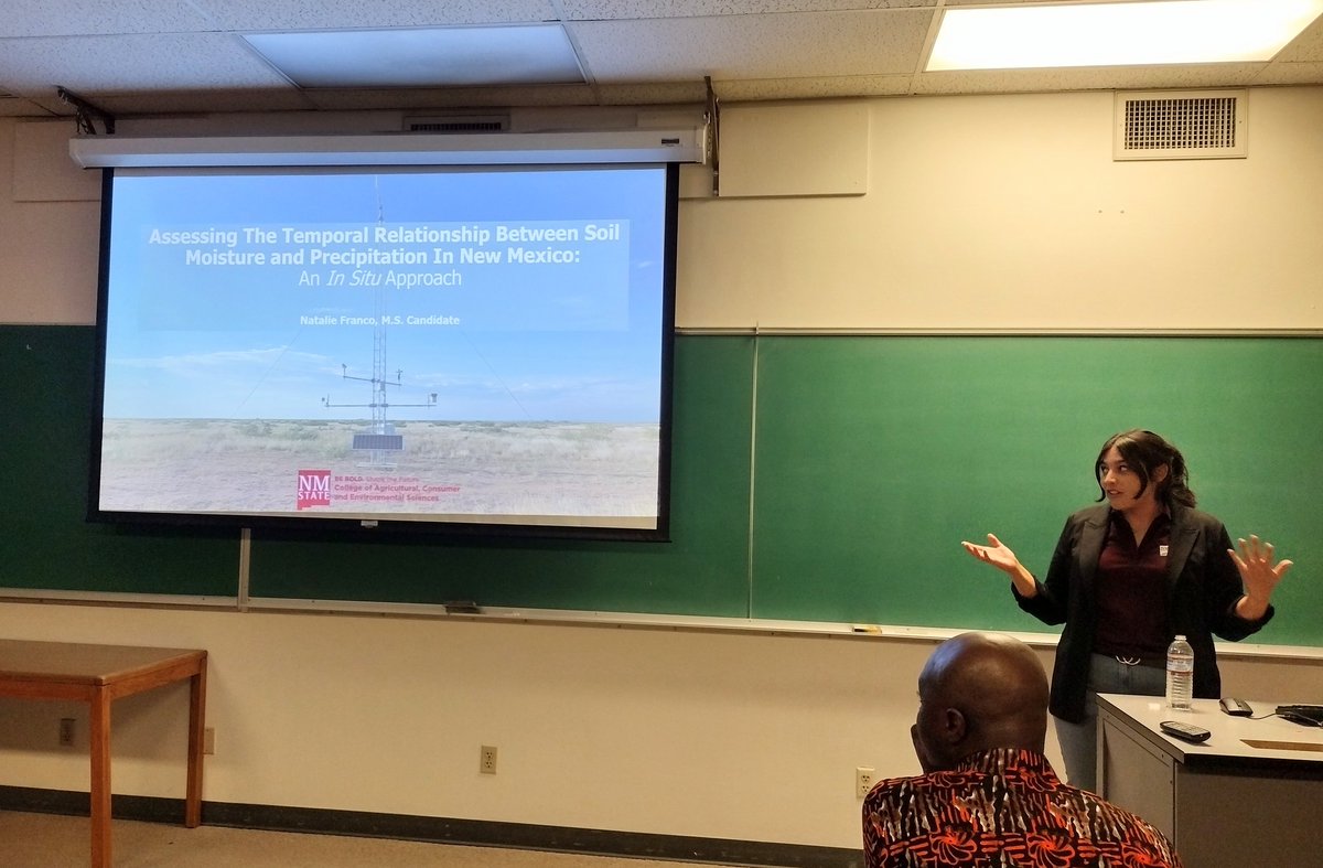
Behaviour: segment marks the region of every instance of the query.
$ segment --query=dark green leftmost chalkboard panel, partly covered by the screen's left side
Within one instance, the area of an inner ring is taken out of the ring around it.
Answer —
[[[0,586],[238,593],[237,531],[87,524],[94,332],[0,327]]]

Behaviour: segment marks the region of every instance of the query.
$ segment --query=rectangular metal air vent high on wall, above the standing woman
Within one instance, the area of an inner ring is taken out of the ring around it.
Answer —
[[[1208,160],[1248,155],[1248,91],[1118,93],[1114,160]]]

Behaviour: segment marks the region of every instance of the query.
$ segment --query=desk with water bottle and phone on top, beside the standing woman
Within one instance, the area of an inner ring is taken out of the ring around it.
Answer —
[[[1248,701],[1254,717],[1278,705]],[[1212,737],[1172,738],[1164,720]],[[1177,712],[1156,696],[1101,693],[1098,793],[1162,830],[1187,868],[1323,864],[1323,728],[1232,717],[1213,699]]]

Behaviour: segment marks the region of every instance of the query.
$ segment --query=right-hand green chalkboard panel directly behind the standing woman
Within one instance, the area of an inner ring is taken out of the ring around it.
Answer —
[[[1293,337],[762,339],[753,614],[1044,630],[959,541],[1045,570],[1130,427],[1181,449],[1233,537],[1297,561],[1254,642],[1323,644],[1323,341]]]

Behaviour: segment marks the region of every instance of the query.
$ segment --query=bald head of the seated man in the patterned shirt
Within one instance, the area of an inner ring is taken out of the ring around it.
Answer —
[[[991,748],[1043,750],[1048,676],[1029,646],[964,632],[937,647],[918,677],[914,752],[925,771]]]

